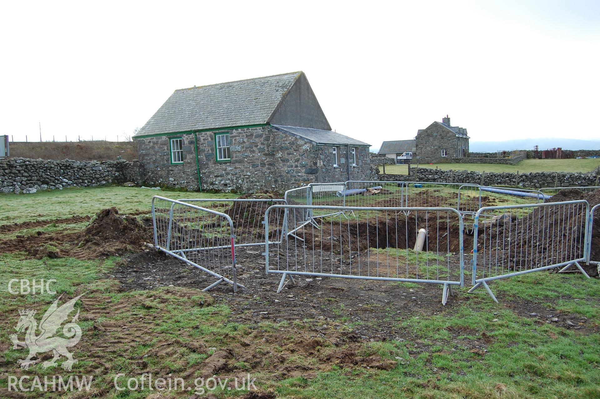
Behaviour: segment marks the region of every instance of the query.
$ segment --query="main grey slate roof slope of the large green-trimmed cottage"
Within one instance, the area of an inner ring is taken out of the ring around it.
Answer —
[[[266,124],[301,74],[298,71],[175,90],[136,137]]]

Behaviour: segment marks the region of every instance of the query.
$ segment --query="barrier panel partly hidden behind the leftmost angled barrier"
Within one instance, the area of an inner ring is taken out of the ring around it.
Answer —
[[[215,199],[215,198],[187,198],[178,201],[186,203],[197,203],[203,208],[212,209],[228,215],[233,221],[233,233],[235,234],[236,247],[250,247],[253,245],[265,245],[265,211],[269,206],[285,204],[284,199]],[[271,212],[269,225],[271,231],[281,232],[283,227],[284,209],[280,212]],[[281,241],[280,236],[269,236],[269,241]]]

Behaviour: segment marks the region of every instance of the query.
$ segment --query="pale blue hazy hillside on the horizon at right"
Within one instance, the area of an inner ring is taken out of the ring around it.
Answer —
[[[562,149],[598,149],[600,152],[600,140],[577,140],[577,139],[523,139],[506,140],[503,142],[476,142],[470,140],[469,149],[472,152],[493,152],[511,149],[539,149],[560,147]]]

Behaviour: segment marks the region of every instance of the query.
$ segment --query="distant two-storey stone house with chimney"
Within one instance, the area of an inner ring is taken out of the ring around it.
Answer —
[[[419,163],[446,163],[454,158],[465,158],[469,154],[467,130],[450,125],[450,118],[433,122],[419,129],[416,137],[416,161]]]

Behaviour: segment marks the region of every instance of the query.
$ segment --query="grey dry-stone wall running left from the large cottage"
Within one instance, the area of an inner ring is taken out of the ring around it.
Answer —
[[[141,170],[137,161],[8,158],[0,160],[0,191],[30,194],[37,190],[135,182],[139,181]]]

